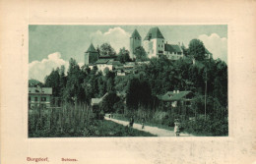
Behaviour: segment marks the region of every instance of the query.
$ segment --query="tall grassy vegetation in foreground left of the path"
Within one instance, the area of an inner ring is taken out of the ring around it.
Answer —
[[[89,107],[35,108],[29,115],[29,137],[154,137],[154,135],[97,120]]]

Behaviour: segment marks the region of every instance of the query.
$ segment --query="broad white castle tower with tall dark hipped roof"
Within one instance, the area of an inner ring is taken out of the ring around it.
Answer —
[[[164,53],[164,37],[159,27],[150,28],[143,40],[143,47],[149,58],[159,57]]]

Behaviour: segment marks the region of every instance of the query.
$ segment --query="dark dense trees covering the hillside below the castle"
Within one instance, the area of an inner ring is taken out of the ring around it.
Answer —
[[[104,55],[115,54],[107,43],[97,51]],[[88,66],[80,68],[71,58],[67,75],[64,74],[64,66],[57,68],[45,78],[43,86],[52,87],[53,96],[60,97],[64,106],[84,104],[89,107],[92,98],[100,98],[107,93],[96,113],[93,112],[96,116],[92,118],[95,119],[102,118],[104,113],[117,113],[122,118],[132,116],[138,122],[145,119],[148,124],[173,127],[174,119],[181,118],[184,131],[197,135],[226,136],[227,66],[220,59],[205,59],[204,44],[198,39],[190,41],[186,53],[187,57],[177,61],[170,61],[164,56],[147,59],[149,65],[138,65],[135,74],[124,77],[117,77],[114,71],[109,70],[103,76],[96,67],[92,70]],[[122,63],[130,61],[127,54],[129,52],[125,48],[121,49],[117,60]],[[138,47],[136,61],[146,60],[145,54],[145,50]],[[196,64],[192,64],[191,57],[197,60]],[[185,113],[178,112],[184,110],[182,106],[172,107],[169,102],[161,102],[158,98],[167,91],[177,89],[190,90],[194,94]],[[62,110],[65,111],[65,107]],[[84,120],[80,122],[74,124],[85,124]],[[105,122],[94,124],[101,123]]]

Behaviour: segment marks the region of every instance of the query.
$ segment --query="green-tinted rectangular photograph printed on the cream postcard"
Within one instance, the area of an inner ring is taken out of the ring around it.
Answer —
[[[28,137],[228,137],[226,25],[30,25]]]

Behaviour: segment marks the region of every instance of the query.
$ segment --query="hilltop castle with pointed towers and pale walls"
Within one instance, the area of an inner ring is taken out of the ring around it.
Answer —
[[[137,29],[134,29],[131,37],[130,37],[130,58],[136,58],[136,48],[142,46],[148,58],[159,58],[160,55],[165,55],[169,60],[178,60],[184,57],[183,50],[181,48],[180,43],[178,44],[169,44],[167,41],[165,42],[164,36],[160,32],[159,27],[152,27],[148,31],[147,35],[142,40],[142,37]],[[85,54],[85,64],[95,64],[98,59],[110,59],[109,57],[99,56],[96,48],[93,44],[90,45],[86,54]],[[213,58],[213,54],[209,52],[206,48],[206,58]]]

